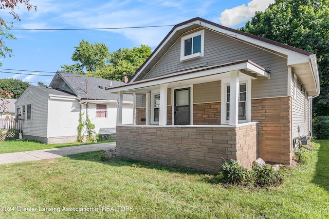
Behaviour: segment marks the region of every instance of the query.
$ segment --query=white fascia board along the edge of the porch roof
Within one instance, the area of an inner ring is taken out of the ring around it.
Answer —
[[[249,69],[248,66],[250,68],[252,67],[253,69]],[[236,70],[241,70],[241,69],[249,69],[249,70],[255,71],[256,73],[264,74],[263,70],[253,66],[252,64],[250,64],[248,62],[244,62],[244,63],[223,66],[223,67],[214,68],[214,69],[207,69],[207,70],[203,70],[203,71],[191,72],[191,73],[186,73],[186,74],[178,74],[178,75],[172,75],[172,76],[167,75],[167,76],[163,76],[163,77],[159,77],[159,78],[148,79],[148,80],[145,80],[145,82],[139,81],[140,83],[138,83],[138,82],[130,83],[130,84],[122,85],[122,86],[109,88],[108,91],[110,93],[116,93],[118,91],[127,91],[127,93],[129,93],[129,92],[133,92],[134,89],[151,87],[151,86],[156,86],[156,85],[160,85],[160,84],[168,84],[168,83],[178,82],[178,81],[185,81],[185,80],[193,79],[193,78],[197,78],[197,77],[221,74],[221,73],[236,71]],[[265,72],[265,73],[267,73],[267,72]],[[126,93],[126,92],[124,92],[124,93]]]

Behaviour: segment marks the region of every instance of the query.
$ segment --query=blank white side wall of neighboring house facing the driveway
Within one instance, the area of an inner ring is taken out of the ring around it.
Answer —
[[[79,113],[78,101],[49,99],[47,137],[77,136]]]

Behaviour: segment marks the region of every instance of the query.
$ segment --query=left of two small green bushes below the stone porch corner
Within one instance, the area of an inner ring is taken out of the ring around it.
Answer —
[[[222,165],[221,177],[224,183],[241,185],[248,180],[249,171],[236,161],[231,160]]]

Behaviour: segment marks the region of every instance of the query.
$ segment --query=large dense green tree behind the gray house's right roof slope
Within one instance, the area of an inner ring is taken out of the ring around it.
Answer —
[[[240,30],[317,54],[321,94],[315,115],[329,115],[329,1],[276,0]]]

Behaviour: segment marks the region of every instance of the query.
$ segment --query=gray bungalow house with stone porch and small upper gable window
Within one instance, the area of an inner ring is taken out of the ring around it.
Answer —
[[[117,155],[210,173],[234,159],[290,165],[312,130],[316,55],[203,18],[173,27],[119,96]],[[133,94],[134,125],[121,123]]]

